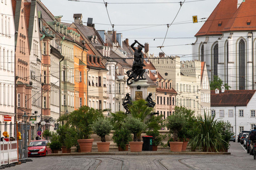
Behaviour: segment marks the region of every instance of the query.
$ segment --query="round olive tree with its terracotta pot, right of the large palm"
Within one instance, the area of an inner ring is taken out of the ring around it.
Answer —
[[[106,135],[109,135],[113,126],[109,118],[100,117],[92,125],[92,130],[100,137],[101,142],[97,142],[99,152],[108,152],[110,142],[106,142]]]

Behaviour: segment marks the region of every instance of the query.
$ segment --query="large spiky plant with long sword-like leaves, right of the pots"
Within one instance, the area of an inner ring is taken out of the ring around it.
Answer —
[[[202,149],[202,151],[219,151],[223,149],[225,141],[219,132],[217,120],[215,116],[204,114],[204,118],[197,116],[199,126],[198,133],[189,141],[191,150]]]

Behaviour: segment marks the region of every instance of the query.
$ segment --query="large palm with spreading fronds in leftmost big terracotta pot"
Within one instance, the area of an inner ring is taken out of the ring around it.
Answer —
[[[66,121],[76,129],[77,142],[81,152],[91,152],[93,139],[90,139],[93,133],[92,124],[98,117],[103,117],[102,111],[95,110],[88,106],[82,106],[69,115],[60,117],[60,121]]]

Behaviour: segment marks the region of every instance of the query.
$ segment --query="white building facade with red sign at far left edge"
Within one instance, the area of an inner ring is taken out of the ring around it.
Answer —
[[[13,137],[15,27],[12,1],[0,2],[0,135],[4,131]]]

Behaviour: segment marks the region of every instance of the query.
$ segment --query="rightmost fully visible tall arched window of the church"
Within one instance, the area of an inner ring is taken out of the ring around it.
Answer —
[[[245,90],[245,43],[239,41],[239,90]]]

